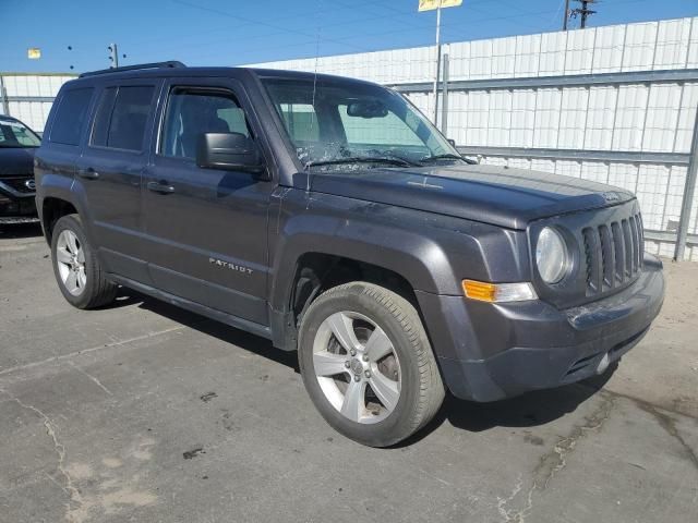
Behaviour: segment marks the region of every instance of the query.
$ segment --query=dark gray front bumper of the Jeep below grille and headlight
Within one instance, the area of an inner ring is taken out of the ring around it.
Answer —
[[[638,280],[598,302],[559,311],[542,301],[490,304],[418,292],[450,391],[495,401],[602,372],[637,344],[664,300],[661,262],[645,257]]]

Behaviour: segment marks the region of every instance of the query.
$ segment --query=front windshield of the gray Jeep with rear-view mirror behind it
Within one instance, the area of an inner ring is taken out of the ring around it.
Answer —
[[[305,168],[464,161],[401,95],[378,85],[318,78],[264,81]]]

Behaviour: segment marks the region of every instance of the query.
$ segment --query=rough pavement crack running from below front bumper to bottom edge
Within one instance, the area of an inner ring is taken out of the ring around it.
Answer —
[[[601,403],[590,415],[585,417],[585,422],[581,425],[576,425],[569,435],[558,439],[553,449],[541,457],[533,470],[529,489],[524,492],[524,481],[519,476],[508,498],[497,497],[497,511],[502,516],[502,523],[526,523],[526,518],[533,510],[533,495],[537,491],[545,490],[553,477],[567,466],[567,455],[575,450],[577,442],[590,431],[599,431],[611,417],[615,398],[605,392],[599,392],[599,396]],[[521,497],[520,495],[525,495],[522,508],[508,508]]]

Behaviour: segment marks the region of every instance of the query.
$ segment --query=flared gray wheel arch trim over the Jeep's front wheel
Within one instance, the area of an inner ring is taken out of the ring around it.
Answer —
[[[453,281],[441,247],[404,231],[371,238],[303,233],[280,244],[269,296],[274,344],[280,349],[296,349],[303,313],[332,287],[359,280],[375,283],[408,300],[422,316],[414,291],[438,292],[440,285]]]

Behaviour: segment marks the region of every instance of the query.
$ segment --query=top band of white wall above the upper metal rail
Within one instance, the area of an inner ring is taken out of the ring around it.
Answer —
[[[450,80],[698,68],[698,19],[448,44]],[[285,60],[251,66],[317,71],[383,84],[433,81],[434,47]]]

